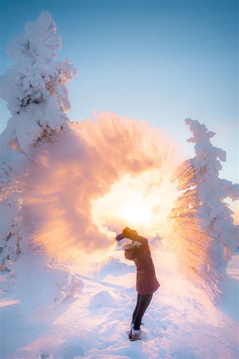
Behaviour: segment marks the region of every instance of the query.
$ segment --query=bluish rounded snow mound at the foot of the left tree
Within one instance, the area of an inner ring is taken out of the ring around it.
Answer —
[[[67,296],[82,291],[83,282],[72,275],[64,266],[51,265],[40,255],[26,255],[24,261],[16,263],[18,280],[13,288],[20,299],[20,311],[26,317],[35,314],[36,309],[50,310]]]

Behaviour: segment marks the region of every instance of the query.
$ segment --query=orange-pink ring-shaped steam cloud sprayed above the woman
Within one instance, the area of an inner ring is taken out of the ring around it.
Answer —
[[[23,171],[29,244],[56,260],[79,263],[88,256],[100,261],[115,246],[114,230],[127,222],[111,216],[109,223],[110,203],[107,212],[99,200],[111,193],[114,211],[112,191],[120,183],[121,203],[129,203],[130,193],[137,196],[140,188],[147,199],[143,205],[150,205],[154,219],[141,229],[148,237],[162,234],[163,202],[177,197],[169,200],[176,191],[169,178],[183,155],[172,138],[145,121],[93,114],[92,120],[70,124],[52,143],[42,143]]]

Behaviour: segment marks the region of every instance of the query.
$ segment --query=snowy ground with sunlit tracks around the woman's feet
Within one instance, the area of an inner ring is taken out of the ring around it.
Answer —
[[[99,275],[82,278],[78,297],[31,320],[21,316],[14,298],[5,297],[1,359],[238,358],[238,256],[228,265],[223,305],[217,308],[180,274],[173,253],[152,255],[161,286],[143,318],[142,341],[128,339],[136,274],[118,250]]]

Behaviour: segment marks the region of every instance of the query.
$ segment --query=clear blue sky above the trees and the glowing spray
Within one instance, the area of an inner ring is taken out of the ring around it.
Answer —
[[[72,121],[93,109],[145,119],[192,157],[184,119],[197,119],[227,152],[221,177],[238,181],[236,1],[2,0],[1,10],[1,74],[14,64],[11,36],[47,10],[62,37],[58,60],[79,72],[68,85]],[[2,132],[10,113],[0,105]]]

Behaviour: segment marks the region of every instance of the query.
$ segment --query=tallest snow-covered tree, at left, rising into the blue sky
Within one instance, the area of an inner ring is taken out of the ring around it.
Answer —
[[[1,76],[0,95],[8,102],[12,117],[0,137],[0,265],[12,272],[13,262],[23,258],[25,247],[19,224],[21,186],[16,175],[31,161],[32,148],[61,134],[69,121],[65,114],[71,108],[66,84],[77,70],[69,59],[53,61],[59,48],[61,37],[56,33],[55,22],[43,11],[36,21],[25,25],[24,34],[12,38],[7,52],[17,64]]]

